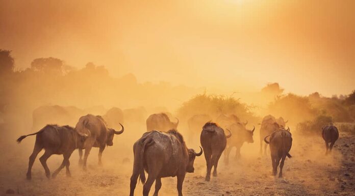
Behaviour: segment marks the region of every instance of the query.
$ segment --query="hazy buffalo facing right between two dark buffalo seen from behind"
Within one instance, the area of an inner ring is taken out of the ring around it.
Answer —
[[[233,136],[227,141],[227,149],[224,151],[224,162],[229,163],[229,155],[233,147],[236,147],[236,156],[235,159],[240,158],[240,148],[245,142],[253,143],[254,139],[252,138],[255,130],[255,126],[252,130],[245,128],[245,125],[242,123],[234,123],[230,127]],[[229,130],[229,129],[227,129]]]

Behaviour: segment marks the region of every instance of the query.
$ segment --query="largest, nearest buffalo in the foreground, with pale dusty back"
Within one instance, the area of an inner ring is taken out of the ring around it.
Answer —
[[[183,182],[186,172],[193,173],[196,153],[188,149],[183,136],[176,130],[167,132],[149,131],[142,135],[133,146],[134,163],[131,177],[130,196],[134,195],[138,176],[143,185],[143,196],[148,196],[150,187],[156,181],[154,196],[162,186],[161,178],[177,177],[177,191],[182,196]],[[144,170],[148,173],[145,182]]]

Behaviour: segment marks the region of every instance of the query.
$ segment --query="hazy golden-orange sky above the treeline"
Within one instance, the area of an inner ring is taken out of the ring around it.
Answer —
[[[348,94],[355,1],[0,0],[0,48],[192,87]]]

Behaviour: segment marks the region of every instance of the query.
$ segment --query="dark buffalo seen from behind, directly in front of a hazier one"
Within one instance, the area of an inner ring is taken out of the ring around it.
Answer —
[[[270,137],[269,141],[267,141],[267,137]],[[277,166],[280,164],[280,174],[278,177],[282,178],[282,169],[284,167],[286,156],[291,158],[291,155],[289,154],[292,147],[292,135],[290,133],[290,128],[287,130],[283,128],[278,129],[271,133],[271,135],[266,136],[264,141],[265,143],[270,144],[272,174],[276,176]]]

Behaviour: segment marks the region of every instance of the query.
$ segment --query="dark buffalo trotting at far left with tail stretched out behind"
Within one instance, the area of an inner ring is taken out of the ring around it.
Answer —
[[[36,133],[22,135],[17,139],[20,143],[22,139],[29,135],[36,135],[36,142],[33,152],[30,156],[27,179],[31,179],[31,169],[38,153],[44,149],[44,154],[39,158],[41,161],[45,176],[49,179],[50,172],[47,166],[47,159],[53,154],[62,154],[64,159],[60,167],[53,173],[53,178],[66,166],[66,175],[70,176],[69,158],[71,153],[77,148],[83,148],[87,134],[77,132],[70,126],[47,125]]]

